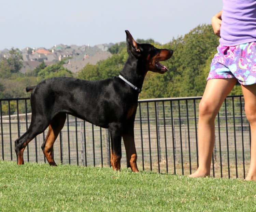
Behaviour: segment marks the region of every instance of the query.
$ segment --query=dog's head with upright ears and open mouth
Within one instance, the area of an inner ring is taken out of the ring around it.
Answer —
[[[169,49],[157,49],[151,44],[137,43],[131,36],[128,30],[126,32],[126,45],[129,55],[133,55],[146,64],[147,71],[153,71],[157,73],[165,73],[168,69],[161,65],[159,61],[169,59],[173,51]]]

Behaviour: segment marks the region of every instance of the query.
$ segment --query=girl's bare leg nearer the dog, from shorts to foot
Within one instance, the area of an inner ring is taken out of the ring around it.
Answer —
[[[210,176],[214,146],[214,120],[226,96],[236,84],[236,78],[210,79],[199,104],[198,152],[199,166],[189,177]]]

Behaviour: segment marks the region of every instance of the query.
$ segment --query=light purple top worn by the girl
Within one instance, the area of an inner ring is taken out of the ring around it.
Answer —
[[[256,41],[256,0],[223,0],[221,38],[223,46]]]

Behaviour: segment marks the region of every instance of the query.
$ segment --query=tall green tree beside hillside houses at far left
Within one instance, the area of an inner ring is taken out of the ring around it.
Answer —
[[[12,73],[17,73],[22,68],[22,53],[19,49],[12,48],[10,51],[10,57],[7,59]]]

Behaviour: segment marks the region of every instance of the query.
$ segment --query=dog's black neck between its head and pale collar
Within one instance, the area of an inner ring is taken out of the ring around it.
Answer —
[[[139,60],[134,56],[128,57],[124,68],[120,71],[120,75],[122,75],[127,81],[138,88],[142,88],[144,76],[145,76],[145,67],[139,63]]]

